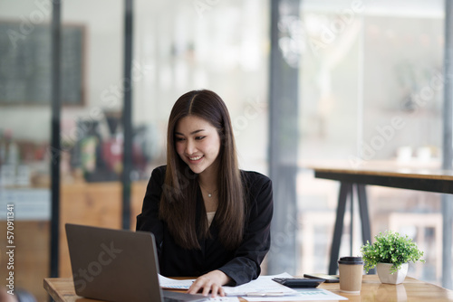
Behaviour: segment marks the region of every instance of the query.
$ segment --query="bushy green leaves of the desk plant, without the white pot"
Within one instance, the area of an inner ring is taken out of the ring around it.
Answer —
[[[376,240],[373,244],[367,241],[361,247],[362,258],[365,262],[364,269],[368,272],[379,262],[392,263],[391,273],[401,269],[401,264],[412,261],[425,262],[420,260],[423,251],[419,250],[417,244],[408,235],[400,235],[398,232],[380,232],[374,236]]]

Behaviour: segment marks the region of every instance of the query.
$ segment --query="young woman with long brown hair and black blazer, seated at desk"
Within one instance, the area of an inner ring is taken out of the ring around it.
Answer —
[[[270,247],[272,184],[239,170],[226,105],[210,90],[181,96],[169,116],[167,165],[149,180],[138,231],[151,231],[160,273],[198,277],[188,293],[224,296],[260,274]]]

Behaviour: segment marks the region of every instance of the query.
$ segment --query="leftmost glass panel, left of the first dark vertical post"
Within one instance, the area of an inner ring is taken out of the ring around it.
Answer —
[[[0,1],[0,277],[43,301],[50,253],[52,4]],[[17,296],[16,296],[17,297]]]

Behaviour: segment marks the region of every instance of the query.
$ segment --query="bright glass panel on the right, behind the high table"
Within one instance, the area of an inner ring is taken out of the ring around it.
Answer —
[[[439,167],[443,2],[304,1],[302,15],[303,166]],[[325,271],[339,185],[304,169],[298,181],[299,272]],[[386,230],[408,234],[427,260],[410,265],[411,276],[440,284],[439,194],[367,190],[371,236]],[[342,255],[360,253],[357,212],[353,231],[345,217]]]

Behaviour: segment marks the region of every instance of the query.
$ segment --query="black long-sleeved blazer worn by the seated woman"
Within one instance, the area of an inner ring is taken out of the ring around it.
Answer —
[[[236,250],[226,250],[222,246],[218,239],[216,217],[209,229],[210,238],[199,242],[201,250],[187,250],[174,241],[167,224],[159,220],[161,187],[166,168],[162,165],[152,171],[143,207],[137,216],[137,231],[151,231],[156,238],[160,274],[167,277],[198,277],[220,269],[233,279],[231,285],[241,285],[257,278],[261,271],[260,264],[271,243],[271,180],[256,172],[241,170],[248,211],[244,239]],[[203,203],[199,188],[197,203]]]

